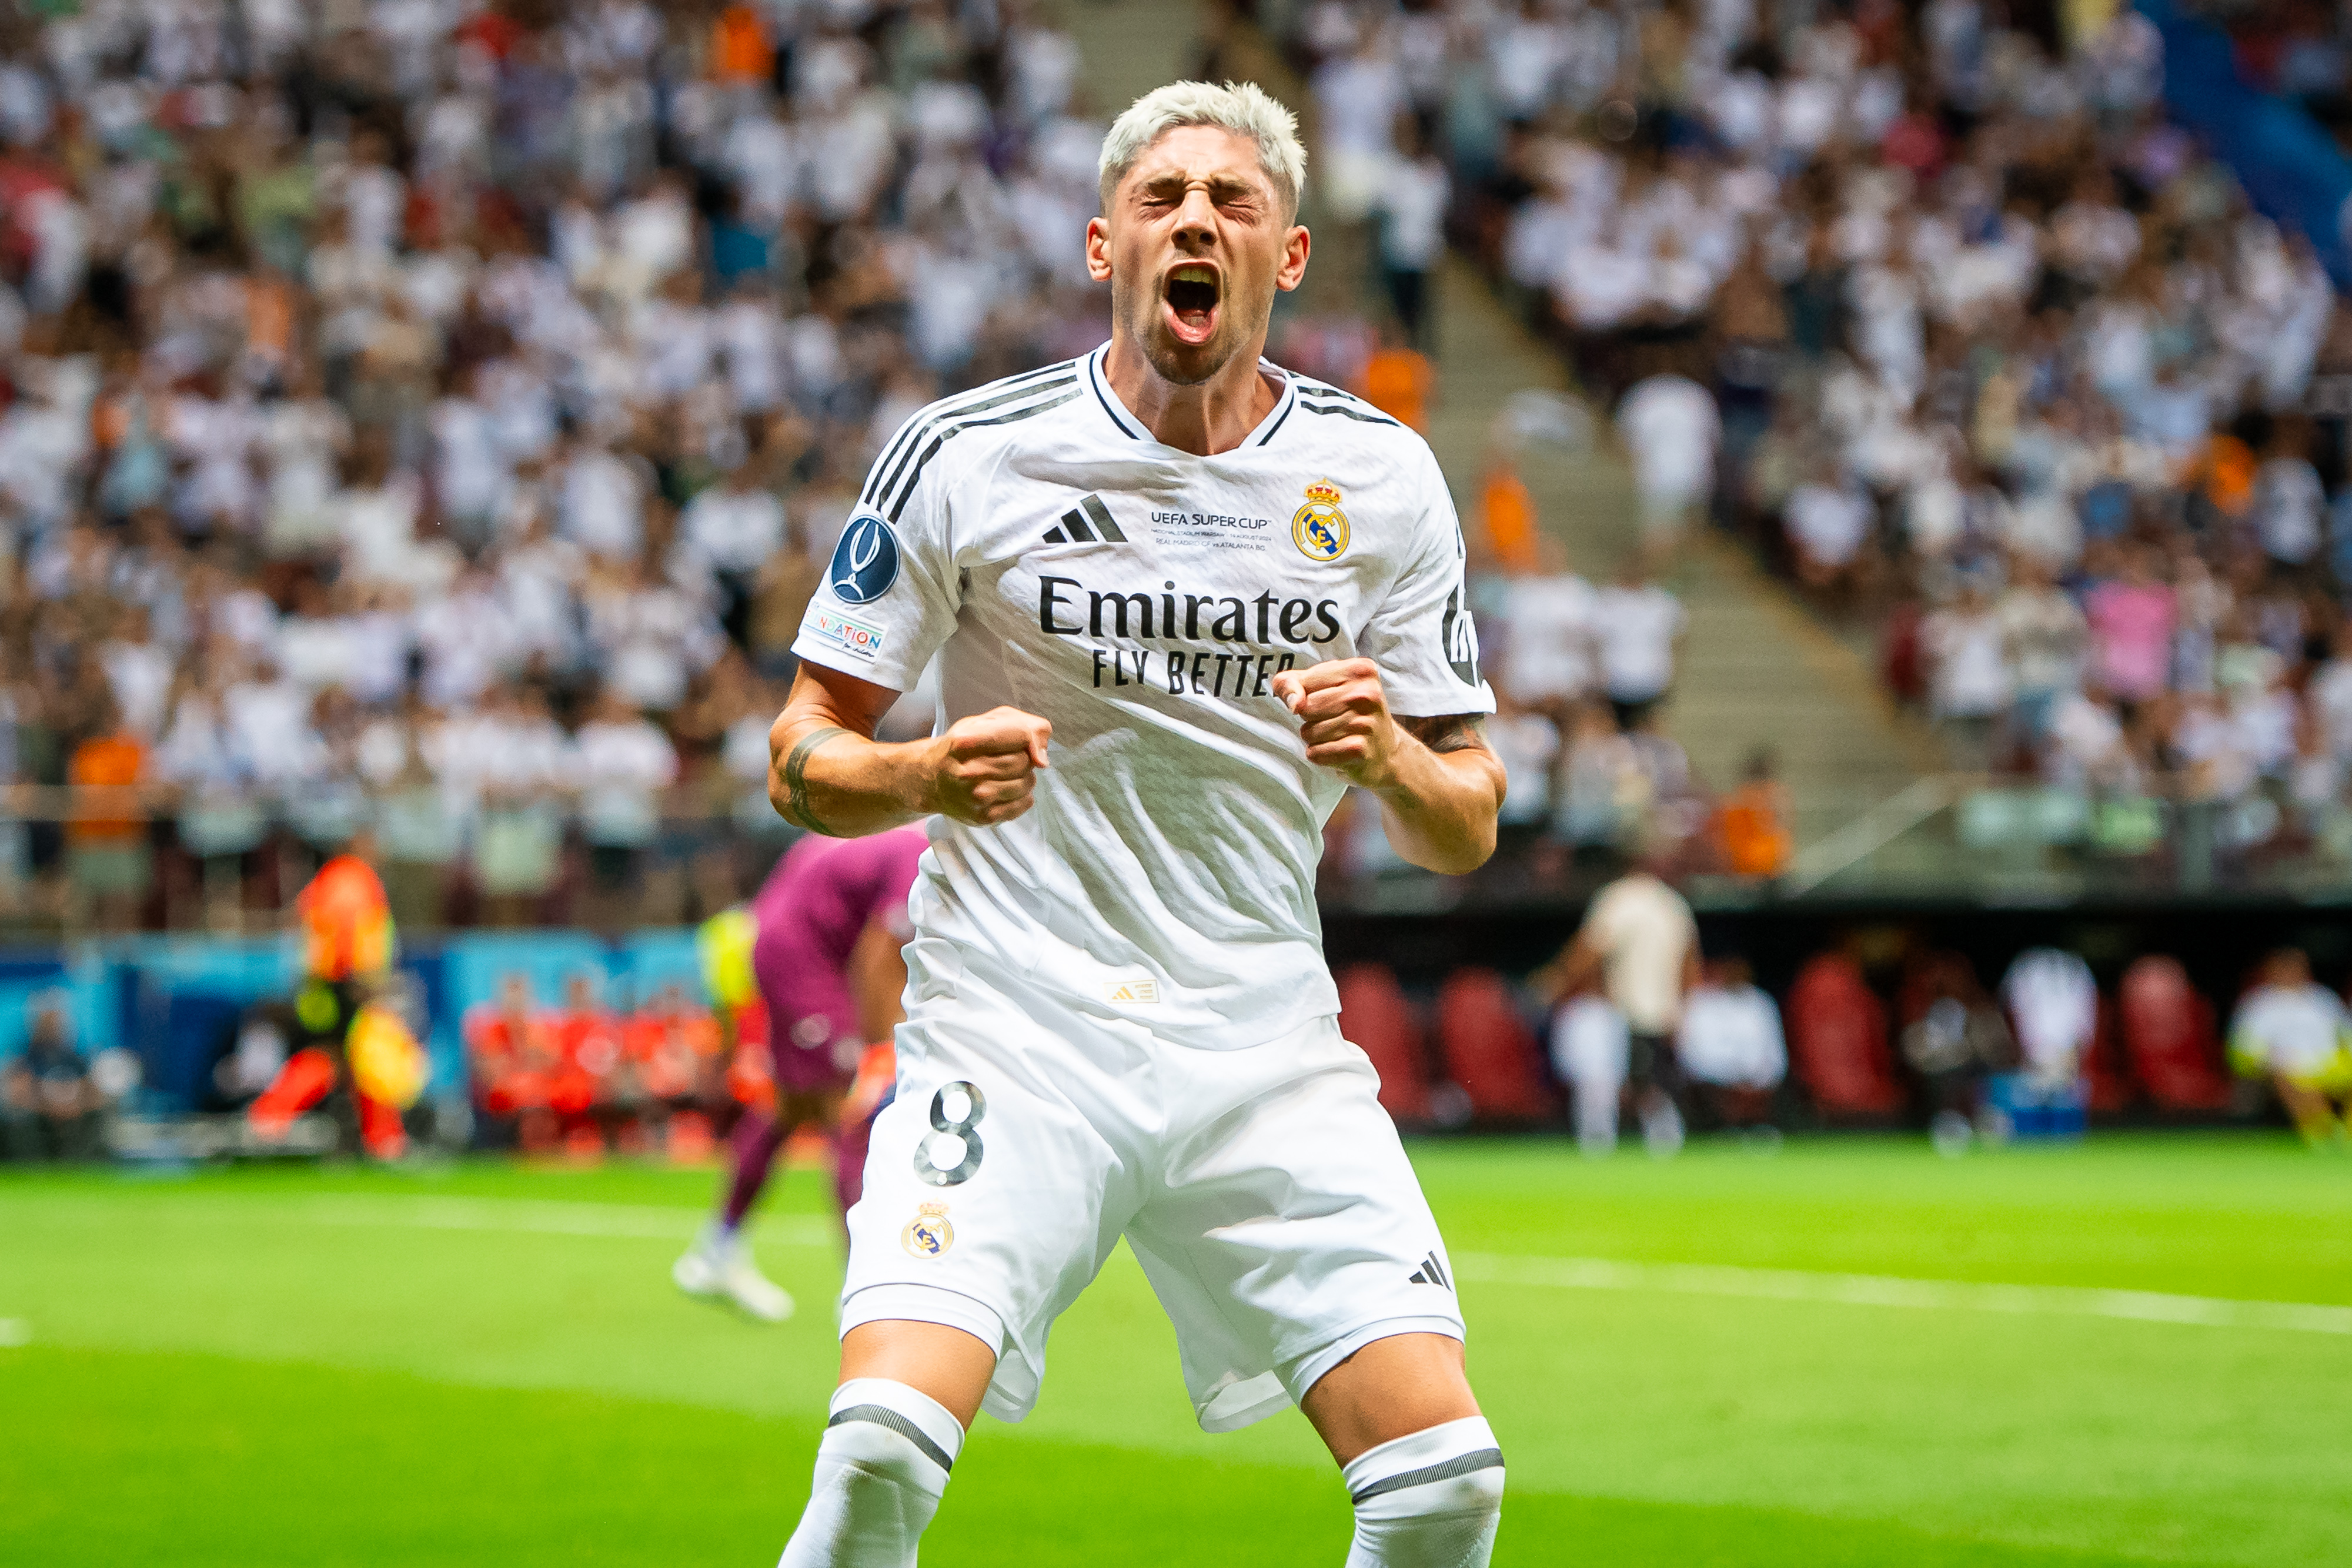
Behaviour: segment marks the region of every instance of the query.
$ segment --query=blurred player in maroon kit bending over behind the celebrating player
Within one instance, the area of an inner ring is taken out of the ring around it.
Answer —
[[[868,1046],[887,1044],[903,1018],[898,947],[913,931],[906,893],[927,844],[920,825],[868,839],[811,832],[783,853],[753,898],[750,964],[767,1004],[776,1110],[748,1112],[736,1124],[727,1201],[673,1265],[680,1291],[729,1300],[771,1324],[793,1316],[793,1298],[753,1262],[743,1218],[800,1128],[840,1126],[835,1194],[844,1215],[858,1201],[866,1133],[880,1105],[856,1105],[849,1117],[842,1105]]]

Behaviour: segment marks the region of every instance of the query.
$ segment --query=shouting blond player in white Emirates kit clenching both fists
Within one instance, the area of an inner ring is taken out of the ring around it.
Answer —
[[[802,621],[776,809],[941,820],[783,1568],[913,1563],[974,1415],[1030,1410],[1120,1237],[1202,1427],[1305,1408],[1352,1566],[1494,1549],[1454,1269],[1315,917],[1350,785],[1416,865],[1484,863],[1494,698],[1428,444],[1261,360],[1303,162],[1256,87],[1120,115],[1087,228],[1110,343],[908,421]],[[934,651],[938,733],[875,743]]]

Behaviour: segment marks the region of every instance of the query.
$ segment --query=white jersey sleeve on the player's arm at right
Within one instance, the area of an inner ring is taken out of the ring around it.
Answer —
[[[1381,668],[1390,712],[1432,719],[1494,712],[1477,668],[1477,628],[1463,581],[1463,524],[1437,458],[1425,458],[1421,508],[1404,569],[1371,611],[1357,651]]]

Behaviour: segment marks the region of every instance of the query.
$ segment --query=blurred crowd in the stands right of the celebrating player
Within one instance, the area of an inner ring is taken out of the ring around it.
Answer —
[[[2352,853],[2352,315],[2164,118],[2147,19],[1282,12],[1336,207],[1390,233],[1381,193],[1442,153],[1451,240],[1616,411],[1658,552],[1700,512],[1743,529],[1879,637],[1955,769],[2122,804],[2093,818],[2114,849],[2161,797],[2220,851]],[[2340,122],[2343,14],[2241,12],[2241,71]],[[1489,534],[1512,597],[1573,614],[1583,585]],[[1644,642],[1583,614],[1597,649]],[[1496,628],[1522,646],[1529,616]]]

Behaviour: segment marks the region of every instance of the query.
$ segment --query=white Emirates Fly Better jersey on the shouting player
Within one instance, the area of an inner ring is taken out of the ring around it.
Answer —
[[[1270,682],[1364,656],[1392,712],[1491,712],[1463,534],[1428,444],[1357,397],[1261,362],[1272,411],[1204,458],[1145,433],[1105,353],[910,418],[793,651],[898,691],[936,651],[943,724],[1054,724],[1023,818],[934,818],[922,971],[976,957],[1181,1044],[1256,1046],[1338,1011],[1315,863],[1348,788]]]

